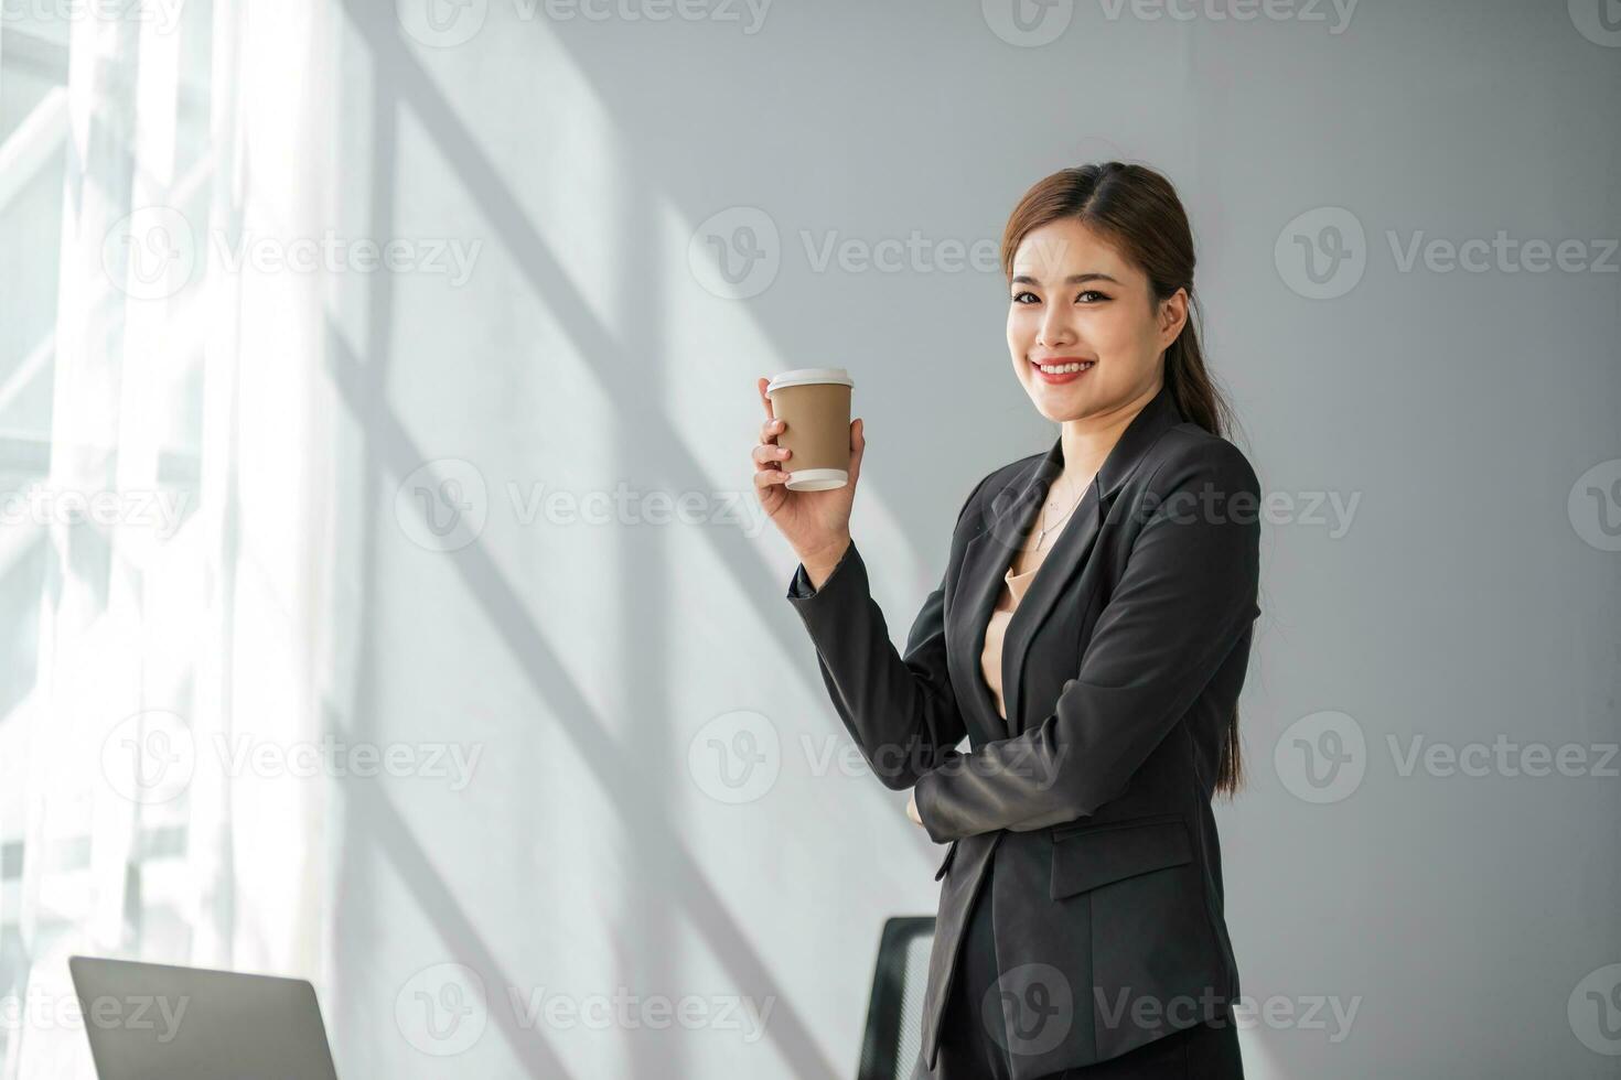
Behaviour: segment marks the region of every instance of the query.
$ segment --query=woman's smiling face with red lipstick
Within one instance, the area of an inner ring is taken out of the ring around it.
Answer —
[[[1070,217],[1033,228],[1013,254],[1008,351],[1052,421],[1107,413],[1159,389],[1165,347],[1187,322],[1187,291],[1156,304],[1144,275]],[[1037,363],[1093,366],[1044,374]]]

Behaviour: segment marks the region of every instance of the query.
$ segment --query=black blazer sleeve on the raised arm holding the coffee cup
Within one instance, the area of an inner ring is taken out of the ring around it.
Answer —
[[[968,495],[958,526],[989,478]],[[968,727],[945,664],[943,575],[913,620],[905,654],[890,643],[854,541],[820,589],[799,563],[788,601],[815,643],[833,708],[885,787],[911,787],[963,740]]]

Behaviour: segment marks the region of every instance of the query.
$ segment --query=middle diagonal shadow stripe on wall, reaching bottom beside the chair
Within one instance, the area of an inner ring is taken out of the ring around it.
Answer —
[[[327,327],[327,358],[339,393],[357,423],[365,427],[368,444],[378,458],[397,479],[408,476],[425,460],[421,450],[412,442],[410,434],[394,413],[381,400],[368,397],[371,381],[366,376],[366,368],[349,348],[339,329],[331,324]],[[561,724],[558,730],[574,743],[574,750],[587,763],[601,790],[608,792],[616,805],[632,805],[635,793],[648,779],[639,772],[645,772],[652,766],[639,761],[635,755],[626,753],[609,738],[590,701],[558,661],[528,610],[520,604],[520,591],[503,576],[481,541],[456,552],[446,552],[444,557],[462,576],[468,594],[477,597],[483,607],[491,627],[535,695],[558,714],[579,717],[579,722]],[[658,767],[666,764],[655,763]],[[733,981],[757,997],[760,989],[770,991],[775,999],[775,1012],[767,1031],[794,1074],[806,1078],[827,1077],[832,1080],[836,1077],[838,1072],[823,1056],[793,1002],[785,1001],[783,994],[778,993],[780,988],[770,970],[746,944],[747,934],[742,926],[726,912],[723,899],[710,886],[681,837],[660,818],[642,818],[627,823],[627,827],[644,834],[645,852],[650,860],[657,861],[657,865],[648,866],[648,876],[661,874],[671,884],[673,899],[697,926]]]

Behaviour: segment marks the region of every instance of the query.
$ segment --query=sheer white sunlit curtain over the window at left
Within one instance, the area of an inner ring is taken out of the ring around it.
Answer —
[[[6,8],[5,1077],[92,1075],[73,954],[324,983],[326,282],[237,259],[321,232],[318,6]]]

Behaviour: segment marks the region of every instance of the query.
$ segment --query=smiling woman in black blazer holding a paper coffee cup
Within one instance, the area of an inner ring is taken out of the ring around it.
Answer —
[[[874,772],[952,845],[916,1075],[1242,1077],[1211,798],[1242,774],[1260,484],[1188,321],[1188,220],[1151,168],[1067,168],[1002,264],[1013,372],[1060,434],[968,495],[905,654],[849,536],[862,421],[849,484],[791,492],[759,384],[788,599]]]

